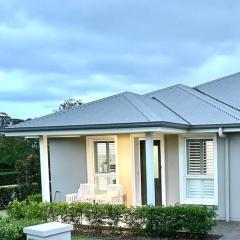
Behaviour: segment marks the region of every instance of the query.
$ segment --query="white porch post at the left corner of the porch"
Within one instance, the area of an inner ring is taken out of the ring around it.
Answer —
[[[50,202],[49,159],[48,159],[47,136],[39,137],[39,147],[40,147],[40,164],[41,164],[42,201]]]

